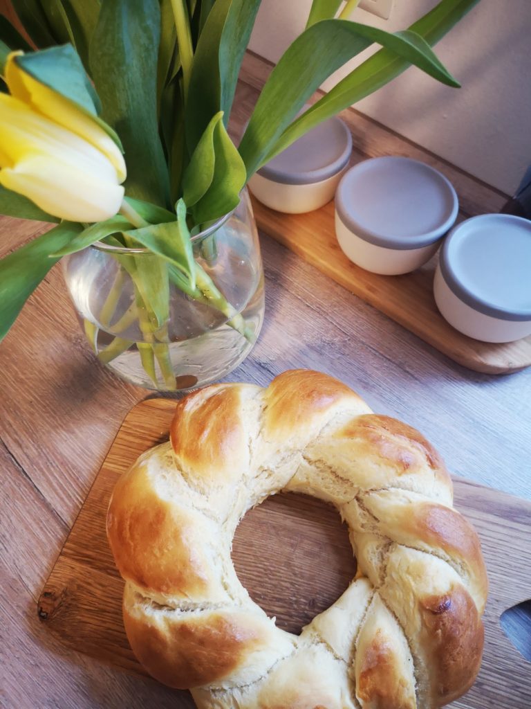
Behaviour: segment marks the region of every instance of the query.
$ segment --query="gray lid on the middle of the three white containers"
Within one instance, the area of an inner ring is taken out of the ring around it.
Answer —
[[[459,203],[438,170],[409,157],[373,157],[343,175],[336,210],[350,231],[388,249],[418,249],[444,235]]]

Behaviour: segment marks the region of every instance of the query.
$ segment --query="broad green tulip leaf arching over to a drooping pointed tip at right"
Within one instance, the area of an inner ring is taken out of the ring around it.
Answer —
[[[304,30],[280,57],[251,116],[239,151],[250,177],[277,150],[287,125],[336,69],[377,42],[450,86],[457,82],[429,46],[422,51],[411,32],[389,34],[348,20],[323,20]],[[304,131],[303,131],[304,132]]]

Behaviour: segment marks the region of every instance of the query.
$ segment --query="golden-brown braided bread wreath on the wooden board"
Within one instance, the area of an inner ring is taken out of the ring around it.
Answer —
[[[333,503],[358,561],[299,637],[251,601],[230,555],[246,511],[280,491]],[[132,649],[200,708],[431,709],[479,670],[486,571],[440,456],[325,374],[178,401],[171,441],[115,486],[108,538]]]

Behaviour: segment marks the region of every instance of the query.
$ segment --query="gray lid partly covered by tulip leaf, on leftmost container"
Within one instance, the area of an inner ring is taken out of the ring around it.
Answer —
[[[341,172],[351,152],[350,130],[334,116],[279,152],[258,174],[281,184],[321,182]]]

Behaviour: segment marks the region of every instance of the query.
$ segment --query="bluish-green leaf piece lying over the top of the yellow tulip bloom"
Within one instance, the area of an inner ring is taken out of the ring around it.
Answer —
[[[118,135],[98,115],[101,111],[101,101],[72,45],[23,54],[15,57],[15,62],[35,81],[64,96],[86,116],[90,116],[123,152]]]

